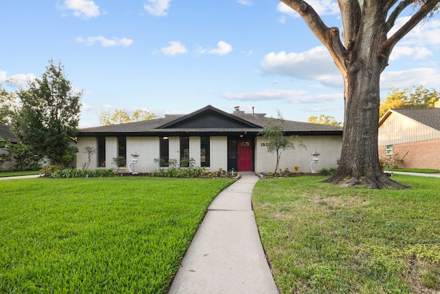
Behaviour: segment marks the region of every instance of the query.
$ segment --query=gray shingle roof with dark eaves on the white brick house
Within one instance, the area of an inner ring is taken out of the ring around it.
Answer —
[[[216,114],[221,114],[230,120],[236,120],[237,124],[241,124],[241,127],[193,127],[193,128],[177,128],[173,127],[175,122],[180,123],[184,120],[190,120],[195,118],[197,115],[203,114],[204,111],[215,112]],[[265,117],[265,114],[245,114],[243,112],[227,114],[215,107],[210,105],[203,107],[202,109],[192,112],[186,115],[166,115],[164,118],[156,118],[153,120],[144,120],[134,123],[123,123],[120,125],[105,125],[101,127],[89,127],[86,129],[80,129],[80,134],[78,136],[93,136],[96,134],[138,134],[140,136],[154,136],[155,134],[164,133],[178,133],[178,132],[188,132],[188,133],[209,133],[209,134],[219,134],[219,133],[238,133],[238,132],[249,132],[258,133],[263,127],[267,126],[271,118]],[[245,125],[243,125],[245,123]],[[331,125],[318,125],[314,123],[303,123],[293,120],[285,120],[285,132],[287,133],[334,133],[342,134],[342,127],[335,127]]]

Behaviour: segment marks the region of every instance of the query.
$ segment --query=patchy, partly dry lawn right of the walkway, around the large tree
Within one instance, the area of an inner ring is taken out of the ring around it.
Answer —
[[[319,178],[318,178],[319,179]],[[440,293],[440,178],[371,191],[260,180],[252,204],[281,293]]]

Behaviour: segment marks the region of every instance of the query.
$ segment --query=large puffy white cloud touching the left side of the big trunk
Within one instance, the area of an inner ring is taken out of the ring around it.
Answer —
[[[300,53],[271,52],[260,62],[260,67],[263,74],[270,76],[292,76],[329,85],[342,81],[338,67],[323,46]]]

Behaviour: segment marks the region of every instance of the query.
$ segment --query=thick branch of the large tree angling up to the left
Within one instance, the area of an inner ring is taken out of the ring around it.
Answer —
[[[345,48],[339,37],[339,29],[329,28],[320,18],[313,7],[303,0],[280,0],[287,6],[300,14],[310,30],[315,34],[318,40],[329,50],[336,66],[341,72],[346,72],[347,67],[344,63]],[[351,0],[354,1],[354,0]],[[440,0],[439,0],[440,1]]]

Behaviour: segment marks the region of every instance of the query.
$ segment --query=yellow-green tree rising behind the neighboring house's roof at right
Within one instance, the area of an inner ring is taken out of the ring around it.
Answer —
[[[435,101],[440,98],[440,91],[434,88],[427,89],[420,85],[399,90],[392,87],[388,96],[380,105],[379,117],[382,117],[388,109],[395,108],[424,108],[434,107]]]

